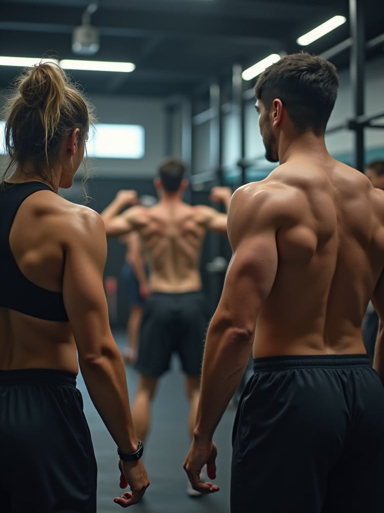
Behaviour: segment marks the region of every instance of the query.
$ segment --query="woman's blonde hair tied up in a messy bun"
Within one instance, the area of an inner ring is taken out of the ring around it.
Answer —
[[[66,73],[55,63],[40,63],[16,78],[5,105],[5,146],[10,162],[4,182],[14,165],[32,166],[33,175],[52,184],[52,167],[66,135],[76,128],[81,141],[95,121],[93,107]],[[84,166],[85,167],[85,166]],[[25,171],[24,171],[25,172]],[[87,169],[83,182],[87,179]]]

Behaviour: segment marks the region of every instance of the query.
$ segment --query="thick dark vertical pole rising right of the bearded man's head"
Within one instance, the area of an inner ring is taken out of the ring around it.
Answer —
[[[365,16],[362,0],[349,0],[350,30],[352,37],[350,80],[354,117],[364,114],[365,86]],[[354,165],[364,171],[364,127],[355,125]]]

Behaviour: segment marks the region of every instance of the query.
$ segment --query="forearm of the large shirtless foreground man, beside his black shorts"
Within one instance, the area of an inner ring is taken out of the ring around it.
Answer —
[[[212,319],[205,344],[201,396],[194,436],[209,443],[239,387],[252,349],[253,334]]]

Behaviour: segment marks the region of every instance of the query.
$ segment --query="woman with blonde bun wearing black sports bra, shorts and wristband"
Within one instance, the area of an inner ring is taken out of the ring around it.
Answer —
[[[96,513],[97,466],[76,376],[116,442],[121,488],[150,484],[113,339],[105,229],[62,198],[83,162],[92,107],[53,63],[23,72],[6,106],[0,184],[0,495],[12,513]]]

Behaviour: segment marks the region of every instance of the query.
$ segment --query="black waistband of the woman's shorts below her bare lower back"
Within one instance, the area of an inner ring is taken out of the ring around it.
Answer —
[[[76,374],[57,369],[0,370],[2,385],[69,385],[76,387]]]

